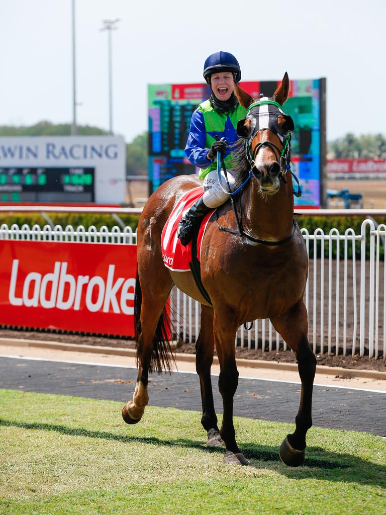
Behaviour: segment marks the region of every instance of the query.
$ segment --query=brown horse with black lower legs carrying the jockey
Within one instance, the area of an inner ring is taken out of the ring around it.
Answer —
[[[289,79],[285,74],[272,100],[280,106],[287,100]],[[236,87],[239,102],[246,109],[258,104]],[[273,105],[273,102],[271,102]],[[244,138],[239,152],[241,179],[252,167],[253,178],[241,193],[243,236],[236,234],[231,203],[218,209],[207,225],[201,249],[201,277],[212,305],[200,293],[190,272],[173,272],[164,266],[161,232],[181,196],[200,183],[196,177],[180,176],[161,185],[142,212],[137,236],[137,282],[135,289],[136,348],[138,377],[133,400],[122,409],[128,424],[141,420],[148,397],[148,372],[170,370],[165,304],[173,284],[202,305],[201,329],[196,343],[196,369],[202,398],[201,423],[207,431],[207,445],[225,443],[224,461],[248,465],[240,452],[233,425],[233,397],[238,383],[235,334],[238,327],[255,319],[269,318],[287,345],[294,351],[302,382],[295,431],[280,446],[282,460],[298,466],[304,460],[306,433],[312,425],[311,400],[316,359],[308,343],[307,312],[303,293],[308,258],[299,227],[293,222],[292,179],[285,178],[280,154],[293,129],[291,118],[277,112],[274,127],[259,129],[259,114],[252,108],[238,124]],[[250,164],[251,163],[251,164]],[[229,233],[219,230],[235,230]],[[248,235],[248,236],[246,236]],[[256,241],[257,240],[257,241]],[[219,363],[219,390],[223,400],[221,429],[213,402],[210,367],[216,346]],[[283,386],[285,388],[285,386]]]

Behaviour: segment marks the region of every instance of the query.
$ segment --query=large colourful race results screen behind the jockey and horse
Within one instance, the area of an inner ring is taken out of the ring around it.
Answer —
[[[292,134],[292,171],[299,178],[302,197],[295,205],[322,205],[325,169],[325,79],[291,80],[284,110],[295,124]],[[254,98],[272,96],[280,81],[240,82]],[[190,118],[209,98],[207,84],[149,84],[149,181],[150,193],[178,175],[198,173],[184,148]],[[322,173],[323,170],[323,173]]]

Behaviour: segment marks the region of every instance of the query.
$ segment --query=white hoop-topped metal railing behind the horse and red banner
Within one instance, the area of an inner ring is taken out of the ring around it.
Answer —
[[[304,296],[313,351],[385,357],[386,226],[376,228],[373,220],[366,219],[360,234],[355,234],[353,229],[347,229],[344,234],[337,229],[331,229],[328,234],[322,229],[313,234],[302,229],[302,234],[307,252],[313,251]],[[0,239],[135,244],[136,232],[130,227],[97,230],[94,226],[85,229],[23,225],[19,228],[16,224],[11,227],[3,224]],[[343,258],[340,258],[342,246]],[[370,252],[370,258],[366,259],[366,251]],[[174,287],[171,314],[176,333],[181,334],[183,341],[194,342],[200,330],[200,304]],[[269,320],[256,320],[249,331],[241,327],[236,345],[263,352],[287,348]]]

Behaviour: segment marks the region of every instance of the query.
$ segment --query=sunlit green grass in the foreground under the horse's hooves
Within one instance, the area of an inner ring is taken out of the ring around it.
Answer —
[[[307,466],[292,469],[278,460],[291,424],[235,418],[251,466],[231,467],[205,448],[197,412],[148,407],[127,426],[120,409],[0,390],[0,513],[386,513],[380,437],[311,428]]]

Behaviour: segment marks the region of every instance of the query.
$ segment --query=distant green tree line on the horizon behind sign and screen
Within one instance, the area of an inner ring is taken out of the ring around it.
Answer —
[[[108,135],[106,130],[91,125],[79,125],[81,136]],[[0,126],[0,136],[69,136],[71,124],[52,124],[39,122],[32,126]],[[126,175],[147,175],[148,143],[147,132],[138,134],[126,144]],[[386,137],[382,134],[348,133],[327,144],[328,159],[386,159]]]

